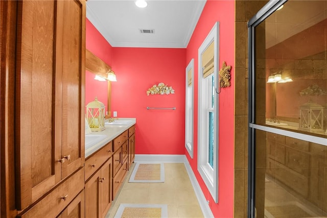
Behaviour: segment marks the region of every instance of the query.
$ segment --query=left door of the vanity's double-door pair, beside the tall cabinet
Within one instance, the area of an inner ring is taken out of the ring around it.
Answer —
[[[100,218],[100,179],[99,170],[85,183],[85,217]]]

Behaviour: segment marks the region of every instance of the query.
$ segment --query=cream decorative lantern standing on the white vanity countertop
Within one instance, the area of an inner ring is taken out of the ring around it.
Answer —
[[[105,130],[104,113],[105,106],[98,98],[86,105],[86,120],[92,132]]]

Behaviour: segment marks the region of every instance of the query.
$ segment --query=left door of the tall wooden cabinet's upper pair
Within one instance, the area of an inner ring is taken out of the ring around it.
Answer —
[[[54,78],[60,72],[56,52],[55,1],[19,1],[16,58],[16,209],[35,202],[61,179],[61,141],[55,104],[61,98]]]

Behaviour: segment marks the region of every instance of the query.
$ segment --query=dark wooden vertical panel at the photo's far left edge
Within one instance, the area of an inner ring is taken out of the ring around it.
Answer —
[[[0,1],[0,216],[14,217],[15,64],[17,1]]]

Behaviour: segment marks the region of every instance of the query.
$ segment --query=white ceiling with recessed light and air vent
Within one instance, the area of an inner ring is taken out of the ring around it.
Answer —
[[[205,0],[151,0],[138,8],[131,0],[88,0],[86,17],[113,47],[185,48]],[[139,29],[154,29],[154,34]]]

